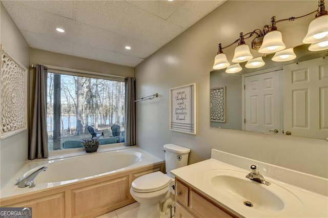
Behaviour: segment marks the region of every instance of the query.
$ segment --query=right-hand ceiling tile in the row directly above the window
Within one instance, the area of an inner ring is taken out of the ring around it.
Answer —
[[[109,63],[120,64],[129,67],[135,67],[144,59],[108,51],[105,49],[95,49],[81,44],[74,44],[74,56],[84,57],[93,60],[100,60]]]

